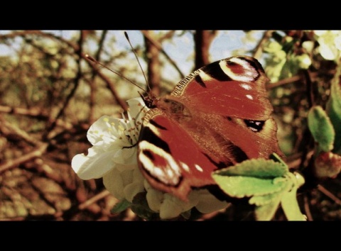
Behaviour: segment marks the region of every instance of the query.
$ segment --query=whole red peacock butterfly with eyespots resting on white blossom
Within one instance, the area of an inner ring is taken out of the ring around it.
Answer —
[[[183,201],[215,185],[217,169],[283,153],[263,67],[253,57],[228,57],[188,74],[171,94],[143,97],[150,110],[138,143],[138,164],[155,189]]]

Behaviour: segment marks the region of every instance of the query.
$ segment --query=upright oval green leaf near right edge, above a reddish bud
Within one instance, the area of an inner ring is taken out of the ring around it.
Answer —
[[[321,106],[313,106],[308,112],[308,127],[320,150],[332,150],[335,130],[330,118]]]

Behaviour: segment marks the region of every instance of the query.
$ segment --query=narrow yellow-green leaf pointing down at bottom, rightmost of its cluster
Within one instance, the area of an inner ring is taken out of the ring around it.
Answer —
[[[298,187],[294,186],[291,191],[283,194],[281,199],[281,206],[288,221],[306,221],[298,206],[297,189]]]

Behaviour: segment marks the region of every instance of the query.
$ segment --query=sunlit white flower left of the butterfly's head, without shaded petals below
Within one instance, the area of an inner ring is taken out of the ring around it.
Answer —
[[[130,99],[128,104],[128,120],[102,116],[88,130],[87,139],[93,146],[87,155],[75,155],[71,162],[80,179],[98,179],[115,167],[137,164],[135,145],[148,108],[141,98]]]

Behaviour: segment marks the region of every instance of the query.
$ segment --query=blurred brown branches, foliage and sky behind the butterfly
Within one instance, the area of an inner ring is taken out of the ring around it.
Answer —
[[[340,65],[339,30],[130,30],[131,43],[155,94],[193,69],[232,55],[263,65],[289,167],[308,169],[314,140],[310,107],[326,107]],[[219,40],[219,43],[218,43]],[[231,47],[237,40],[241,46]],[[111,213],[117,199],[102,180],[83,181],[70,162],[91,146],[87,129],[102,115],[121,116],[126,100],[146,89],[121,30],[9,30],[0,33],[0,220],[140,221]],[[91,55],[119,74],[87,60]],[[183,60],[179,62],[179,60]],[[124,76],[124,77],[122,77]],[[338,127],[337,127],[338,128]],[[338,130],[338,129],[335,129]],[[306,172],[298,194],[308,220],[341,219],[340,175]],[[233,206],[203,221],[241,220]],[[274,220],[285,220],[278,211]]]

